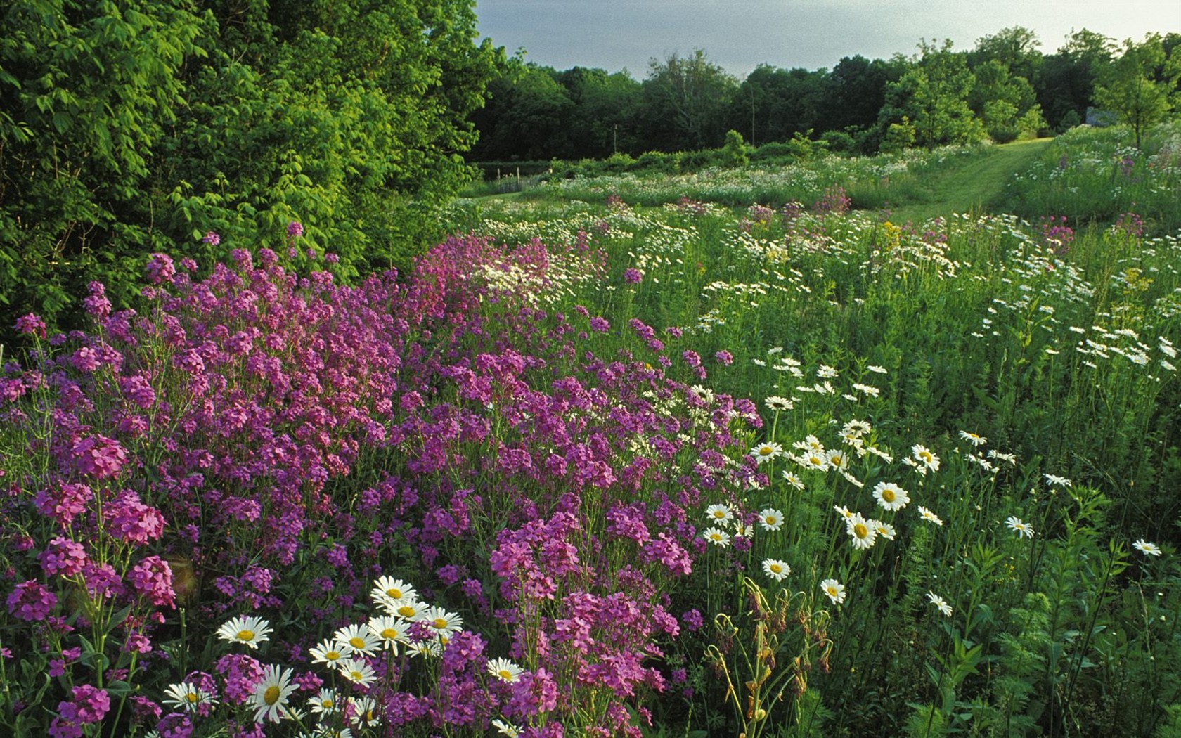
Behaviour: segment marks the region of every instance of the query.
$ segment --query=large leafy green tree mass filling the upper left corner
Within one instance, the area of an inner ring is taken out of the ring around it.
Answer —
[[[53,320],[89,280],[132,298],[150,250],[300,221],[342,277],[405,263],[462,184],[495,52],[470,5],[8,4],[0,295]],[[227,252],[198,250],[207,264]]]

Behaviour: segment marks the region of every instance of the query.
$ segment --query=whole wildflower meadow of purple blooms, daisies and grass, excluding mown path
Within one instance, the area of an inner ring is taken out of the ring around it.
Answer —
[[[1181,736],[1181,129],[1128,141],[1009,214],[888,211],[974,148],[555,179],[409,274],[292,223],[22,318],[0,730]]]

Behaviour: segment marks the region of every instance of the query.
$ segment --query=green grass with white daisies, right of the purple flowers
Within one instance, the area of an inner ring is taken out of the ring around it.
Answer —
[[[666,657],[691,692],[650,734],[1181,734],[1176,126],[1156,136],[1130,166],[1124,133],[1081,131],[454,205],[508,244],[588,234],[611,277],[552,308],[673,328],[605,340],[764,419],[736,507],[782,524],[694,574],[713,626]],[[1121,164],[1143,222],[1103,200]],[[864,209],[784,211],[833,185]]]

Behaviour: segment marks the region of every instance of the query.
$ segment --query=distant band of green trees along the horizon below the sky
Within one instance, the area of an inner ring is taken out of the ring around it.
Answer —
[[[647,77],[626,70],[555,70],[505,59],[472,115],[472,161],[603,158],[612,154],[810,139],[834,151],[873,154],[991,137],[1009,142],[1085,122],[1098,106],[1135,126],[1169,110],[1181,73],[1181,35],[1142,41],[1070,33],[1043,54],[1014,26],[957,51],[927,41],[890,59],[846,57],[831,70],[759,65],[739,81],[703,50],[652,59]],[[1140,128],[1137,128],[1138,132]]]

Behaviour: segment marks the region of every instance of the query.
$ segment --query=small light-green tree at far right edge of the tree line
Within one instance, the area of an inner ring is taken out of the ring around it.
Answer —
[[[1174,47],[1166,55],[1161,34],[1150,33],[1141,43],[1127,39],[1123,52],[1100,77],[1095,102],[1131,126],[1140,148],[1144,129],[1163,120],[1173,110],[1181,54]]]

